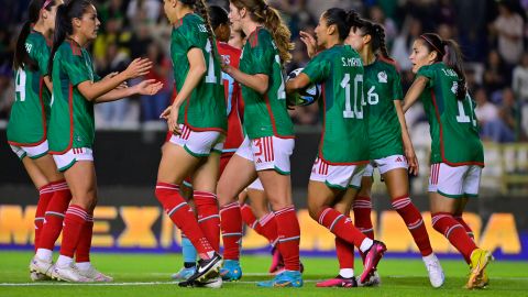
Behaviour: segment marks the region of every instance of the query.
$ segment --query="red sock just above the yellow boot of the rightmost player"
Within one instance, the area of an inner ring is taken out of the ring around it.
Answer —
[[[442,233],[464,256],[465,262],[470,264],[471,253],[476,249],[476,245],[465,232],[464,227],[449,212],[437,212],[431,216],[435,230]]]

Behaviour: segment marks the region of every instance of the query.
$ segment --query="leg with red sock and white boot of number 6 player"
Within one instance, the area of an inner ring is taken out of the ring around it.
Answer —
[[[403,156],[402,160],[404,160]],[[413,235],[413,239],[421,253],[431,286],[437,288],[443,285],[446,276],[442,266],[440,265],[440,261],[438,261],[438,257],[432,252],[429,234],[424,224],[421,213],[409,197],[409,178],[406,167],[406,164],[403,167],[389,167],[387,164],[382,164],[380,170],[385,179],[385,185],[387,186],[393,208],[402,217]]]

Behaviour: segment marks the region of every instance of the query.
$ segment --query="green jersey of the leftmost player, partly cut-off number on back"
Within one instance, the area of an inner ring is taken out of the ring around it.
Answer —
[[[18,146],[35,146],[46,140],[52,95],[44,84],[47,75],[50,47],[46,38],[32,31],[25,40],[25,51],[37,69],[25,66],[14,75],[15,98],[8,123],[8,142]]]

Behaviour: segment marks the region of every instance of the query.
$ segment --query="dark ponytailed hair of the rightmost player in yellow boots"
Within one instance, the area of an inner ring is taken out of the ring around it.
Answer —
[[[448,67],[459,76],[459,84],[457,88],[457,98],[463,100],[468,92],[465,86],[465,73],[462,58],[462,51],[459,44],[453,40],[442,40],[440,35],[436,33],[425,33],[420,35],[426,47],[429,52],[437,52],[437,59],[435,62],[443,62]]]

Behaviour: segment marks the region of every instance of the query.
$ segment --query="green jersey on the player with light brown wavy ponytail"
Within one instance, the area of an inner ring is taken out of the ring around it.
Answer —
[[[266,29],[257,28],[248,37],[240,57],[240,70],[249,75],[264,74],[270,79],[264,95],[242,85],[248,136],[252,140],[273,135],[294,138],[294,124],[286,108],[280,57]]]

